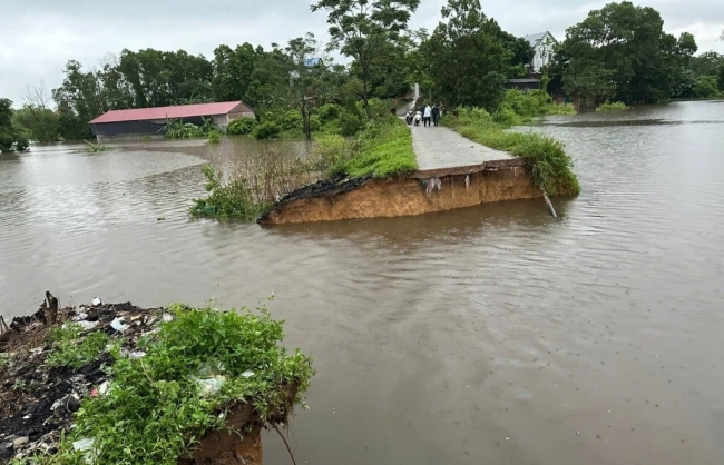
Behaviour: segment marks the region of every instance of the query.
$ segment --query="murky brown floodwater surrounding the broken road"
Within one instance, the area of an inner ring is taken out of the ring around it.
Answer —
[[[0,313],[255,305],[314,356],[299,464],[723,464],[724,102],[550,118],[583,194],[413,218],[190,221],[204,157],[0,157]],[[211,154],[206,154],[211,151]],[[157,220],[165,218],[165,220]],[[268,464],[290,463],[276,435]]]

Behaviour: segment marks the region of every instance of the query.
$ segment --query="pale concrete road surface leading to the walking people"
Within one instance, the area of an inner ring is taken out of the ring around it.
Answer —
[[[480,165],[483,161],[510,158],[505,151],[481,146],[443,126],[411,126],[410,130],[421,170]]]

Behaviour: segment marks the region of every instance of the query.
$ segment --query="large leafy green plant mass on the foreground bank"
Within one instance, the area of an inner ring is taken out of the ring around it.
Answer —
[[[109,389],[84,400],[70,441],[60,445],[61,463],[82,464],[72,441],[91,438],[92,463],[172,465],[206,432],[227,427],[226,415],[238,403],[252,404],[264,423],[285,422],[285,413],[303,405],[301,394],[313,376],[311,358],[281,346],[282,323],[268,310],[183,305],[170,310],[174,320],[145,342],[143,358],[115,354]],[[199,378],[225,383],[209,394]],[[299,386],[295,398],[288,395],[292,386]]]

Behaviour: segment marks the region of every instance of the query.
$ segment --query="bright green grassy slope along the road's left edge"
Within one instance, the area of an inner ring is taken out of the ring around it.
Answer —
[[[415,169],[418,162],[410,129],[398,118],[389,116],[369,122],[353,150],[337,156],[331,174],[352,178],[390,178],[407,176]]]

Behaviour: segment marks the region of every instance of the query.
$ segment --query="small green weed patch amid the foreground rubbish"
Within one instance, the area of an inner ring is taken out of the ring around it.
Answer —
[[[96,359],[110,342],[106,333],[94,332],[79,343],[81,333],[82,327],[79,325],[55,328],[51,333],[51,340],[56,343],[56,347],[46,358],[46,364],[78,369]]]

